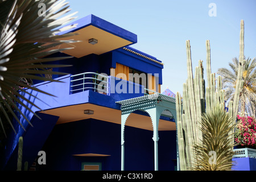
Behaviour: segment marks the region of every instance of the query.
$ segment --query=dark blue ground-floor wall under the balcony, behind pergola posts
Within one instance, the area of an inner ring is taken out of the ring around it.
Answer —
[[[102,170],[120,170],[120,131],[121,125],[96,119],[56,125],[42,148],[47,165],[39,170],[81,170],[82,162],[101,162]],[[176,132],[159,131],[159,138],[159,170],[174,170]],[[111,156],[73,156],[88,153]],[[152,131],[125,127],[125,169],[154,170]]]

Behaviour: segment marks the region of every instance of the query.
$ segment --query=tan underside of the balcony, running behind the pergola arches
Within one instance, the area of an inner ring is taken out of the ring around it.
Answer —
[[[94,114],[84,114],[84,110],[93,110]],[[112,109],[109,107],[94,105],[90,103],[59,107],[41,111],[45,114],[55,115],[59,117],[56,125],[68,122],[81,121],[84,119],[98,119],[101,121],[117,123],[121,125],[121,110]],[[139,129],[153,131],[152,121],[149,116],[131,113],[126,121],[126,126],[136,127]],[[158,131],[172,131],[176,130],[175,122],[159,120]]]

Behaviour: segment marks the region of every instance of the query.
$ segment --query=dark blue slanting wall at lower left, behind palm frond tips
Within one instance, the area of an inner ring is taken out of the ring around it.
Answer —
[[[16,143],[18,143],[19,137],[23,137],[23,163],[27,161],[30,166],[38,156],[38,152],[43,147],[44,142],[46,142],[49,133],[51,133],[59,117],[43,113],[37,114],[41,119],[35,116],[32,117],[30,121],[32,126],[28,125],[26,121],[22,122],[26,131],[20,129],[18,122],[13,122],[18,134],[16,135],[11,130],[8,135],[5,151],[2,152],[4,158],[0,163],[2,170],[16,170],[18,160],[18,145]]]

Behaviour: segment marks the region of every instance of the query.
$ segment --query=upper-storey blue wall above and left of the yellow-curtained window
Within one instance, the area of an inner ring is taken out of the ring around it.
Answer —
[[[137,51],[137,50],[134,49],[134,51]],[[146,55],[151,57],[152,59],[155,59],[155,57],[152,57],[145,53],[143,53],[143,55]],[[68,57],[68,56],[69,55],[65,53],[57,52],[47,57]],[[138,71],[141,71],[143,73],[151,73],[152,75],[154,75],[154,73],[158,73],[159,84],[163,84],[162,82],[163,65],[154,63],[153,61],[145,59],[144,57],[125,51],[122,48],[119,48],[115,51],[111,51],[108,53],[104,53],[102,55],[90,54],[80,58],[72,57],[69,59],[64,59],[59,61],[51,61],[46,64],[71,65],[71,67],[53,68],[53,71],[55,72],[68,73],[71,75],[77,75],[84,72],[106,73],[107,75],[110,75],[110,68],[115,68],[116,63],[126,65],[127,67],[130,67],[133,69],[137,69]],[[63,76],[63,75],[53,75],[53,78],[58,78],[60,76]],[[42,81],[34,80],[34,84],[38,84],[39,82],[42,82]]]

